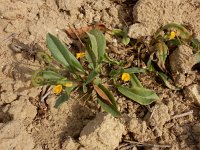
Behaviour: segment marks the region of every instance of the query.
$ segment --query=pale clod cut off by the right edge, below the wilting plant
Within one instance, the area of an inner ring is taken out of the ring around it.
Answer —
[[[185,97],[200,106],[200,85],[193,84],[184,89]]]

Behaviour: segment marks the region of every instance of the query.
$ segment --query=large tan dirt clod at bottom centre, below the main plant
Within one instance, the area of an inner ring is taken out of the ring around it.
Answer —
[[[79,140],[87,150],[113,150],[119,145],[124,131],[119,120],[100,113],[83,128]]]

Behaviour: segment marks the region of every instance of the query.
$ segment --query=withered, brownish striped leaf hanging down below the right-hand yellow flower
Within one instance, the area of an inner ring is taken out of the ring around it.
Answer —
[[[155,50],[156,57],[158,59],[157,65],[160,67],[161,70],[165,71],[165,61],[169,54],[168,47],[164,42],[160,41],[155,44]]]

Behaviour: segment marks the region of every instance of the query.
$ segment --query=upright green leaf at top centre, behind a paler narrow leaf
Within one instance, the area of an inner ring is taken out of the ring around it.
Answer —
[[[95,36],[97,41],[97,51],[98,51],[98,63],[100,63],[104,57],[106,49],[106,39],[103,33],[100,30],[92,30],[90,34]]]

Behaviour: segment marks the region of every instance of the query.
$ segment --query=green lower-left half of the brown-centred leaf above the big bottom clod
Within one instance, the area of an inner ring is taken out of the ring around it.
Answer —
[[[113,107],[112,105],[107,105],[104,101],[102,101],[100,98],[97,98],[97,101],[99,103],[99,105],[108,113],[110,113],[113,117],[119,117],[120,116],[120,112]]]

